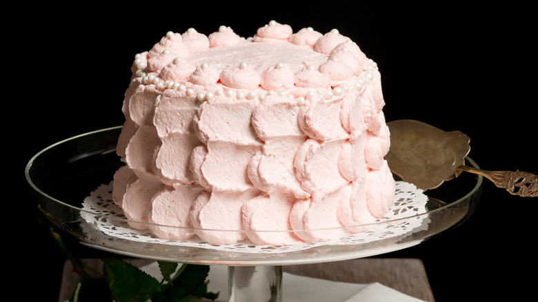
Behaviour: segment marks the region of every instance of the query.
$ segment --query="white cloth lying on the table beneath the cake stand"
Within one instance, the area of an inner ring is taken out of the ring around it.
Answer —
[[[157,279],[161,278],[157,262],[146,265],[141,270]],[[286,272],[282,278],[283,302],[424,302],[381,283],[336,282]],[[228,301],[228,267],[211,266],[208,280],[208,291],[220,292],[217,302]]]

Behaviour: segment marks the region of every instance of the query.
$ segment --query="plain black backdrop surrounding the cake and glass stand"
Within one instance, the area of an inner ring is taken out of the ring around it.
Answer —
[[[8,66],[2,98],[8,135],[3,160],[8,163],[5,202],[10,206],[3,243],[9,265],[4,273],[17,284],[8,291],[27,298],[23,300],[57,301],[66,259],[48,230],[28,214],[34,205],[26,197],[26,162],[61,139],[121,125],[121,103],[135,54],[149,50],[169,30],[193,27],[209,34],[226,25],[252,37],[272,19],[294,31],[337,28],[378,63],[387,121],[419,119],[460,130],[470,137],[470,157],[481,168],[538,173],[537,26],[530,5],[108,4],[28,6],[13,11],[14,21],[3,26],[3,63]],[[524,299],[535,294],[537,281],[537,201],[513,197],[486,181],[477,211],[463,225],[380,256],[422,259],[439,302]],[[99,256],[76,244],[72,248],[83,256]]]

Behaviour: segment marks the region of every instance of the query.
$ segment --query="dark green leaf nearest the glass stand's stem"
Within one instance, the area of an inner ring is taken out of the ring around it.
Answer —
[[[208,265],[189,264],[185,265],[184,268],[179,276],[175,276],[172,283],[161,287],[159,296],[152,297],[152,301],[181,301],[181,299],[190,296],[202,285],[205,285],[209,274]]]

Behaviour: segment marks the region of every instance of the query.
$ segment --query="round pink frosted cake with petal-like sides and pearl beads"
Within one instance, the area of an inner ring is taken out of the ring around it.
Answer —
[[[114,203],[172,241],[361,232],[395,196],[384,105],[376,63],[338,30],[168,32],[132,64]]]

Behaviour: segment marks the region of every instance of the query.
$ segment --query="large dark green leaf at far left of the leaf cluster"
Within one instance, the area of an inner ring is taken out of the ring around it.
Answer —
[[[103,272],[117,302],[146,302],[159,290],[159,281],[119,259],[103,259]]]

